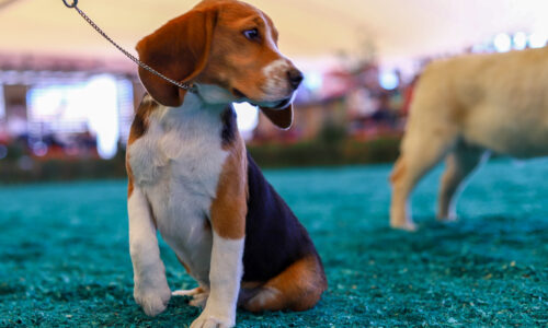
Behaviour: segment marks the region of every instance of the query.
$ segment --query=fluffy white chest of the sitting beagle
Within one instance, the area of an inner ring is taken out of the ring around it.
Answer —
[[[220,112],[185,107],[153,113],[146,134],[129,148],[129,163],[162,237],[204,280],[212,249],[207,221],[227,152]]]

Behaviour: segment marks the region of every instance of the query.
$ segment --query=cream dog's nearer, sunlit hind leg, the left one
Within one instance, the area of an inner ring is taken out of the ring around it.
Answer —
[[[402,140],[401,154],[390,176],[392,197],[390,226],[416,230],[408,213],[408,198],[416,183],[454,147],[457,139],[452,129],[410,129]]]

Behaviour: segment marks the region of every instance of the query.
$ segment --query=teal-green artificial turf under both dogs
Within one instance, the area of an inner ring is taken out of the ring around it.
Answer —
[[[238,312],[239,327],[548,325],[548,161],[498,161],[434,221],[441,168],[413,197],[421,230],[388,229],[390,167],[267,171],[310,232],[329,290],[305,313]],[[124,181],[0,188],[0,326],[185,327],[185,298],[133,300]],[[194,286],[161,246],[172,289]]]

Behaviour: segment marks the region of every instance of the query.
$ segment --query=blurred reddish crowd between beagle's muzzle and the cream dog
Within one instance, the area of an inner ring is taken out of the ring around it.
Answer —
[[[279,131],[260,120],[251,142],[310,141],[334,132],[358,141],[399,136],[418,77],[404,79],[397,70],[386,73],[376,63],[365,63],[327,72],[321,87],[309,87],[306,79],[292,129]]]

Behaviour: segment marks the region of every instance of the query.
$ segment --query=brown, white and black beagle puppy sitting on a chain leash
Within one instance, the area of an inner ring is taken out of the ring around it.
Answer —
[[[206,0],[137,45],[140,60],[191,91],[139,69],[148,91],[127,148],[134,296],[149,316],[171,295],[204,308],[191,327],[232,327],[250,312],[306,311],[327,289],[315,246],[265,180],[238,132],[233,102],[287,129],[302,74],[277,48],[262,11]],[[171,292],[157,231],[198,286]]]

